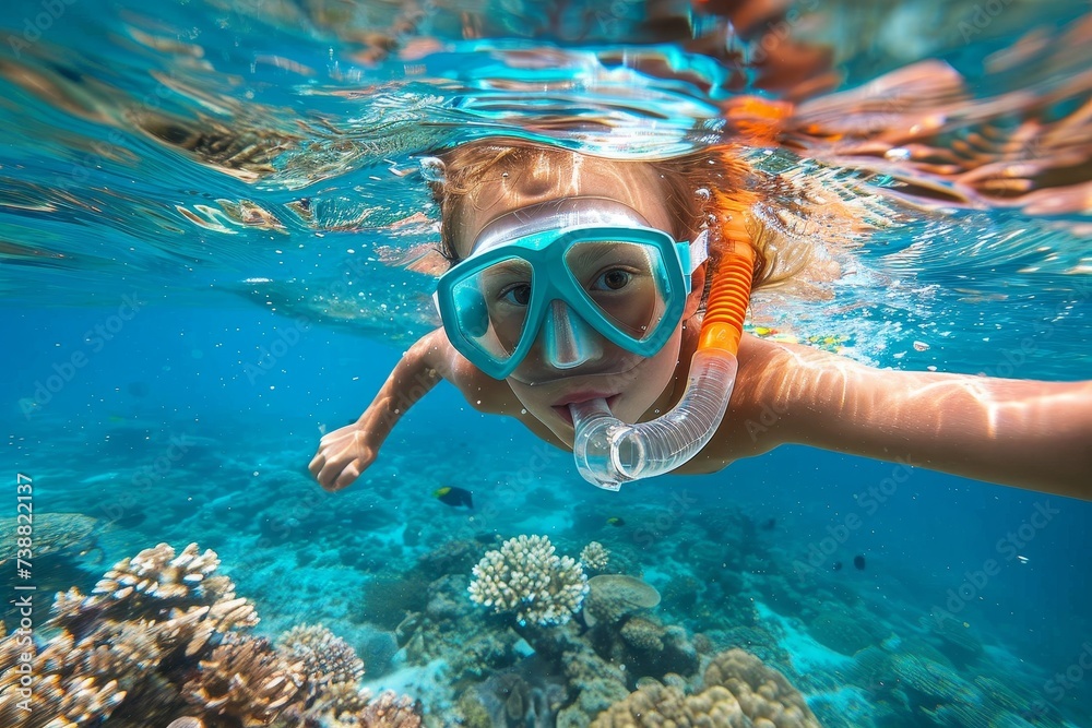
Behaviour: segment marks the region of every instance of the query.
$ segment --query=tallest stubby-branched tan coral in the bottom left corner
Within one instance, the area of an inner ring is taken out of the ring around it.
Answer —
[[[235,598],[230,580],[212,575],[218,564],[215,553],[200,553],[197,545],[176,556],[161,544],[117,563],[92,596],[78,589],[58,594],[48,624],[60,633],[36,646],[39,682],[32,709],[4,725],[110,718],[124,727],[177,717],[186,705],[177,687],[186,658],[204,655],[230,630],[258,621],[253,607]],[[14,679],[9,669],[0,683]],[[16,699],[14,692],[0,694],[0,716],[17,709]]]

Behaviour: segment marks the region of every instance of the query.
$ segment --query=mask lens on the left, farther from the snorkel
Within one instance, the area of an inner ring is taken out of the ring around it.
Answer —
[[[509,258],[452,287],[460,333],[499,363],[512,357],[523,337],[532,277],[530,263]]]

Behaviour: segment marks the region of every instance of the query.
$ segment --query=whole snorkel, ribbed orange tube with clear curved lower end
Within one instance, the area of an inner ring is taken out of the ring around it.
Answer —
[[[679,467],[712,439],[728,408],[755,276],[755,249],[743,205],[723,192],[715,194],[723,251],[682,398],[669,413],[638,425],[614,417],[604,399],[570,405],[577,469],[600,488],[618,490],[622,482]]]

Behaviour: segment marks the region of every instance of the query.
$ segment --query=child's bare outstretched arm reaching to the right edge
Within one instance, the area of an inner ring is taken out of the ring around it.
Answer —
[[[775,440],[770,446],[902,458],[1092,500],[1092,382],[874,369],[751,336],[740,349],[744,371],[733,407],[758,423],[750,434]]]

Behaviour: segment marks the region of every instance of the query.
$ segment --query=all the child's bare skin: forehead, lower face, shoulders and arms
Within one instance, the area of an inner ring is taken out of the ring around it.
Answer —
[[[489,220],[563,196],[603,196],[670,229],[663,191],[648,168],[575,159],[532,165],[485,180],[452,219],[465,256]],[[322,438],[310,470],[340,490],[370,466],[405,411],[441,379],[476,409],[519,419],[543,440],[571,450],[567,397],[614,395],[626,421],[646,421],[682,396],[697,345],[704,270],[692,281],[684,324],[655,356],[626,371],[597,373],[595,362],[558,372],[538,347],[506,381],[482,373],[437,330],[402,358],[355,423]],[[604,344],[609,354],[609,344]],[[606,357],[609,359],[609,356]],[[907,462],[980,480],[1092,500],[1092,382],[1031,382],[933,372],[878,370],[806,346],[744,336],[728,414],[681,474],[714,473],[733,461],[798,443]],[[591,373],[590,373],[591,372]]]

